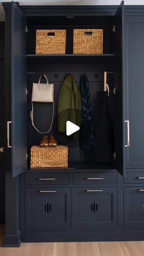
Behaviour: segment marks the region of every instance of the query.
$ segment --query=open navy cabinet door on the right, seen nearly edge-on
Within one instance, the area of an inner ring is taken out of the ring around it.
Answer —
[[[115,14],[115,161],[116,170],[125,176],[124,148],[124,1]]]

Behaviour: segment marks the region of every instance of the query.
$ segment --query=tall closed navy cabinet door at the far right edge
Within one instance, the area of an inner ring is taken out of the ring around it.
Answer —
[[[125,17],[126,168],[144,168],[144,16]]]

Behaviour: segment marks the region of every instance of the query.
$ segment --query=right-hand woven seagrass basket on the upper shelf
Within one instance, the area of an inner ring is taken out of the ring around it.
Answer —
[[[103,29],[74,29],[73,54],[102,54]]]

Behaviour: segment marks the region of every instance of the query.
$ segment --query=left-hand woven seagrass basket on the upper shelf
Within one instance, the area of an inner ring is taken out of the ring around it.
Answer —
[[[65,54],[66,30],[36,30],[36,54]]]

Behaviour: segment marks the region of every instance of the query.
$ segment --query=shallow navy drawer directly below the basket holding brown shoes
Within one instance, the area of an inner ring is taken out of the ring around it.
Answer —
[[[70,184],[69,173],[26,173],[25,185]]]

